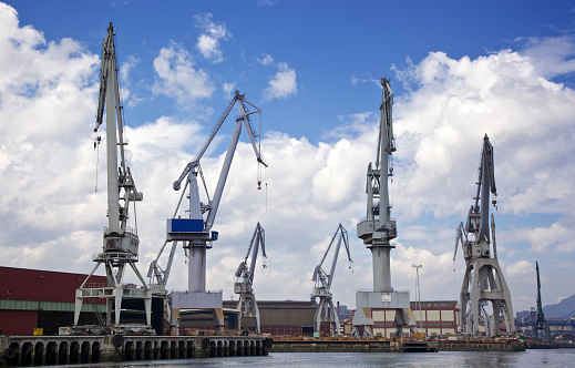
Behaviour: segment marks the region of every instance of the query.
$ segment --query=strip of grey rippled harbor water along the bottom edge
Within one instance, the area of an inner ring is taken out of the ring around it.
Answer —
[[[228,357],[187,360],[124,361],[74,365],[73,367],[185,368],[185,367],[575,367],[575,349],[528,349],[503,351],[440,352],[270,352],[266,357]],[[72,367],[72,366],[69,366]]]

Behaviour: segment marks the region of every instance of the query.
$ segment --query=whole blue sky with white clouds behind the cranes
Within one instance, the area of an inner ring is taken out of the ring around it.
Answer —
[[[258,222],[261,300],[307,300],[338,225],[333,299],[372,289],[357,238],[376,160],[380,79],[394,93],[391,284],[458,300],[455,228],[473,203],[482,139],[494,147],[497,256],[513,310],[575,294],[575,6],[569,1],[0,2],[0,264],[90,273],[107,225],[105,151],[94,150],[100,57],[113,22],[129,165],[144,201],[131,221],[138,269],[165,241],[172,188],[234,91],[261,110],[258,167],[240,135],[207,252],[207,289],[233,292]],[[212,195],[230,113],[202,159]],[[135,222],[135,218],[137,222]],[[329,255],[331,259],[332,255]],[[166,260],[163,258],[163,264]],[[329,268],[326,266],[326,268]],[[103,274],[103,267],[97,274]],[[136,282],[133,273],[126,280]],[[168,289],[187,288],[178,248]]]

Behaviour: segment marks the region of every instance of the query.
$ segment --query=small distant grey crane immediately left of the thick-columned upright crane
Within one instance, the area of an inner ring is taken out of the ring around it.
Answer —
[[[339,233],[337,245],[333,249],[333,259],[331,260],[331,268],[329,269],[329,274],[324,270],[321,267],[324,265],[324,260],[329,254],[333,242],[336,241],[336,236]],[[319,298],[319,305],[316,310],[316,316],[314,318],[314,330],[316,333],[321,330],[322,324],[329,325],[329,334],[330,335],[340,335],[339,330],[339,315],[338,310],[333,307],[332,294],[331,294],[331,283],[333,280],[333,274],[336,272],[336,264],[338,263],[339,249],[341,247],[341,241],[343,241],[343,245],[346,246],[346,252],[348,254],[349,262],[351,260],[351,255],[349,254],[349,242],[348,242],[348,232],[339,224],[333,237],[331,237],[331,242],[321,258],[319,265],[314,269],[314,276],[311,280],[315,282],[314,293],[311,294],[311,299],[315,300]]]

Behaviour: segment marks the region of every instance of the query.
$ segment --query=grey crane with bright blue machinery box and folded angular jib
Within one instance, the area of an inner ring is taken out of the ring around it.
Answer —
[[[232,133],[232,139],[224,159],[224,165],[219,174],[219,180],[217,182],[214,195],[211,198],[199,161],[204,156],[204,153],[208,149],[209,144],[216,136],[217,132],[222,127],[224,121],[236,103],[239,109],[239,116],[236,117],[236,126]],[[254,108],[255,111],[249,112],[248,105]],[[249,135],[254,152],[256,153],[257,162],[264,166],[267,166],[260,154],[260,133],[256,133],[250,120],[250,115],[256,113],[260,116],[260,132],[261,110],[247,101],[245,99],[245,94],[239,93],[239,91],[235,91],[234,98],[227,105],[211,134],[199,147],[196,156],[186,165],[182,175],[179,175],[179,177],[173,184],[173,188],[178,191],[182,186],[182,182],[185,181],[184,190],[182,191],[182,195],[177,203],[176,211],[174,212],[174,216],[167,219],[166,242],[162,246],[156,259],[153,260],[150,265],[148,270],[148,277],[151,277],[151,288],[154,289],[154,293],[165,295],[166,283],[174,258],[174,251],[177,243],[182,242],[188,257],[188,290],[185,293],[172,293],[172,310],[174,311],[172,313],[172,325],[175,325],[175,321],[178,318],[178,313],[175,311],[189,308],[211,309],[214,313],[216,329],[220,329],[224,325],[222,292],[206,293],[206,249],[212,248],[212,242],[217,241],[218,238],[218,233],[213,232],[212,226],[214,225],[214,221],[216,218],[216,213],[219,207],[219,202],[222,200],[222,194],[224,192],[224,186],[229,173],[232,160],[234,159],[234,153],[236,151],[243,124],[246,126],[246,131]],[[199,195],[198,176],[202,180],[205,195],[207,197],[207,203],[202,202]],[[260,184],[261,180],[258,177],[258,188],[260,188]],[[186,190],[188,190],[187,197],[189,200],[189,217],[176,217],[184,195],[186,195]],[[172,249],[167,265],[165,269],[163,269],[160,265],[160,257],[168,242],[173,242]]]

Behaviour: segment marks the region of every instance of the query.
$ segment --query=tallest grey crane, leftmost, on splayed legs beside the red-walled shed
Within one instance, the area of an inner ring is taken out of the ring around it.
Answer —
[[[114,327],[116,333],[121,331],[120,313],[123,299],[143,299],[146,326],[143,330],[151,329],[152,293],[144,278],[137,270],[140,238],[137,227],[129,226],[130,204],[143,200],[143,194],[136,190],[132,172],[126,164],[124,147],[123,108],[120,98],[120,85],[117,81],[117,61],[115,53],[114,27],[112,22],[107,28],[107,34],[102,43],[102,67],[100,73],[100,96],[97,101],[96,125],[94,133],[104,121],[106,126],[106,159],[107,159],[107,227],[104,228],[103,252],[95,254],[93,260],[96,263],[86,279],[82,283],[75,294],[74,326],[78,326],[83,299],[104,298],[106,300],[105,326],[112,326],[112,311],[114,311]],[[100,144],[97,137],[94,149]],[[119,163],[120,153],[120,163]],[[134,221],[135,223],[135,221]],[[88,280],[94,272],[104,265],[107,285],[101,287],[86,287]],[[125,269],[132,268],[142,287],[124,285]],[[131,327],[134,329],[134,327]]]

